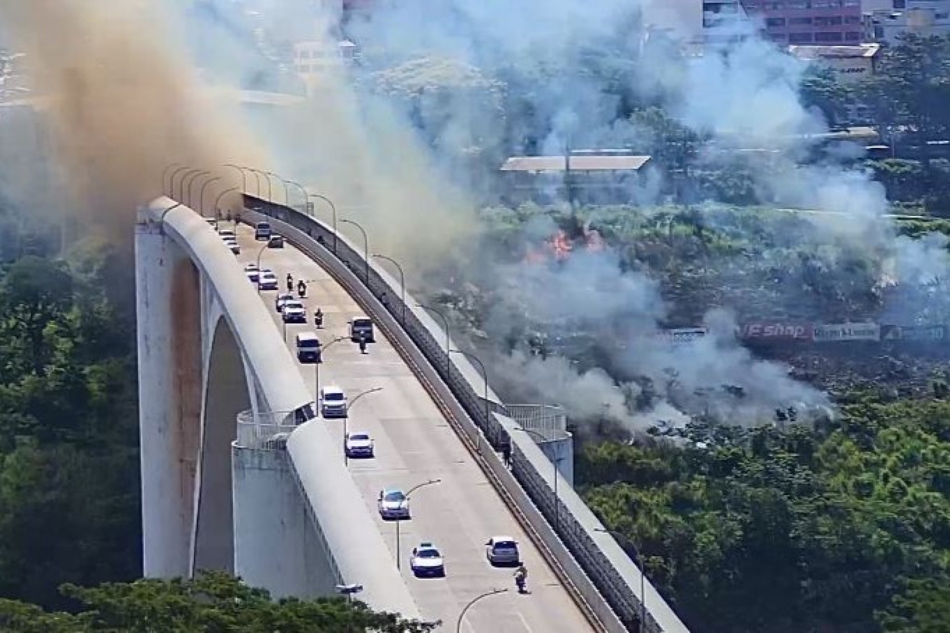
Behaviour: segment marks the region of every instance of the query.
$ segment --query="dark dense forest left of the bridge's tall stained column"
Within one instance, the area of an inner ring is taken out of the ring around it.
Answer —
[[[133,292],[102,245],[28,255],[0,277],[0,595],[141,568]]]

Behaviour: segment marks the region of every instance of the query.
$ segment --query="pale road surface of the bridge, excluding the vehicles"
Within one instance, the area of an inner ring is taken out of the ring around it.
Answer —
[[[262,242],[255,242],[249,227],[239,227],[241,265],[257,259]],[[295,280],[308,281],[305,303],[311,316],[307,326],[287,326],[287,341],[294,335],[314,330],[313,310],[324,312],[320,338],[326,344],[347,333],[347,322],[360,309],[330,275],[300,251],[289,245],[283,250],[266,249],[261,268],[276,272],[281,290],[288,272]],[[261,293],[262,300],[283,327],[274,309],[276,293]],[[357,402],[348,422],[351,431],[368,431],[375,439],[376,457],[351,460],[350,469],[364,500],[376,517],[378,527],[396,555],[395,524],[386,523],[375,512],[375,501],[384,487],[404,491],[429,479],[442,479],[412,494],[412,519],[400,525],[400,559],[409,590],[427,620],[442,620],[454,627],[462,608],[475,596],[493,588],[508,588],[506,594],[492,596],[466,614],[463,631],[468,633],[551,633],[591,630],[557,577],[544,563],[517,521],[494,492],[478,465],[467,454],[422,384],[389,341],[376,332],[376,343],[362,355],[356,344],[342,341],[324,355],[320,367],[321,385],[337,384],[353,395],[382,387],[378,393]],[[314,365],[301,365],[304,380],[314,384]],[[333,437],[339,438],[343,459],[343,422],[328,420]],[[493,534],[514,536],[520,543],[529,570],[530,595],[514,592],[512,570],[491,568],[485,560],[485,540]],[[421,541],[432,541],[442,549],[447,577],[416,579],[409,570],[409,551]],[[389,562],[381,561],[380,564]]]

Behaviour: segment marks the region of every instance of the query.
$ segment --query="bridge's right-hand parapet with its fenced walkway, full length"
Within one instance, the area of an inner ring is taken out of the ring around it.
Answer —
[[[332,229],[314,217],[251,196],[245,196],[245,207],[243,221],[268,219],[278,233],[314,257],[352,293],[368,316],[390,334],[404,358],[409,356],[407,363],[419,372],[420,380],[428,382],[430,394],[451,414],[449,421],[456,425],[460,438],[473,447],[485,440],[496,448],[510,442],[510,471],[494,452],[480,451],[483,467],[496,489],[509,506],[517,507],[516,515],[556,573],[561,574],[565,585],[574,588],[603,629],[622,631],[631,626],[640,613],[640,570],[611,535],[599,532],[602,524],[562,477],[555,504],[551,462],[528,434],[515,431],[512,420],[498,414],[485,415],[485,400],[480,395],[484,385],[477,372],[470,365],[466,371],[460,370],[459,358],[446,361],[446,332],[416,307],[409,295],[403,306],[398,284],[372,262],[366,279],[366,261],[344,235],[337,235],[334,255]],[[490,393],[489,397],[490,409],[504,410],[497,396]],[[555,523],[557,533],[552,528]],[[687,631],[654,586],[649,581],[642,586],[646,630]]]

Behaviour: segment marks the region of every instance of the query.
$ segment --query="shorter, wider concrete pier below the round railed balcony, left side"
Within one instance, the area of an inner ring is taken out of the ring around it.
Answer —
[[[337,579],[286,451],[232,445],[235,574],[276,598],[334,595]]]

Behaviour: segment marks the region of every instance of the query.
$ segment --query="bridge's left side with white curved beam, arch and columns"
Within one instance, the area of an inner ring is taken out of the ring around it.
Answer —
[[[308,422],[314,396],[234,255],[199,214],[164,197],[140,209],[135,243],[144,575],[232,570],[282,595],[358,583],[373,608],[419,617],[352,475],[327,457],[337,447]],[[286,450],[236,439],[248,409],[299,425]],[[268,528],[285,518],[317,538],[283,547]],[[314,551],[326,560],[297,565],[301,590],[285,571]],[[323,571],[303,578],[308,568]]]

